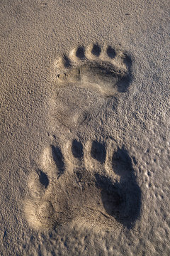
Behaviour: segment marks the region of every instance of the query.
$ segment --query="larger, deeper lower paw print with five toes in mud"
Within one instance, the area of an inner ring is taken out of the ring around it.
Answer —
[[[132,228],[140,215],[135,161],[113,142],[74,139],[47,147],[30,175],[26,217],[33,228],[70,222],[94,228]]]

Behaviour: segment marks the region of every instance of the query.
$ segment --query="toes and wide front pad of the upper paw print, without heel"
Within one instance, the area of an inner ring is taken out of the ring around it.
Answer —
[[[111,46],[79,46],[55,61],[54,79],[59,87],[86,87],[103,97],[125,92],[130,83],[130,57]]]

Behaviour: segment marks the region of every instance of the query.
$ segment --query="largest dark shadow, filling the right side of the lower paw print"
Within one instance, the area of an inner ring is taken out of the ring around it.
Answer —
[[[108,177],[96,174],[96,186],[101,189],[106,212],[130,229],[140,215],[141,191],[128,151],[118,149],[113,155],[113,170],[120,175],[120,182],[113,183]]]

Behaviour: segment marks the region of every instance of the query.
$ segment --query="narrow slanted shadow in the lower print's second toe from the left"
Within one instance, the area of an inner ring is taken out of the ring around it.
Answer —
[[[59,171],[59,176],[64,174],[64,158],[62,156],[62,151],[58,146],[51,146],[52,148],[52,157],[55,161],[57,169]]]

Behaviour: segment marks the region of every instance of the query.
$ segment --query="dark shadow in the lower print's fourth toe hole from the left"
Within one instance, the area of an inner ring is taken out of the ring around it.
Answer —
[[[101,163],[104,163],[106,159],[105,146],[100,142],[93,142],[91,145],[91,157],[97,161],[100,161]]]

